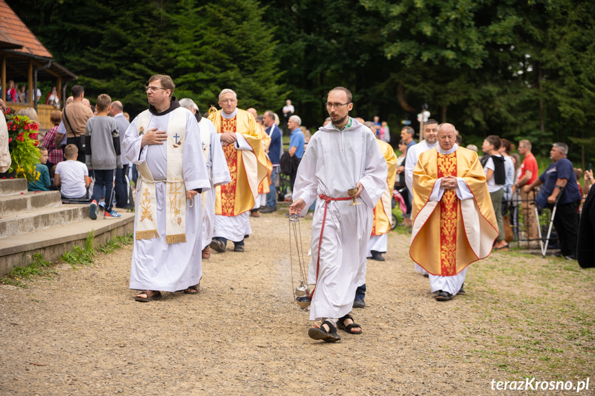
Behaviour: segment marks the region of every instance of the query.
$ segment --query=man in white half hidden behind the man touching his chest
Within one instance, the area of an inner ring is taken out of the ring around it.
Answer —
[[[211,183],[211,188],[201,194],[201,201],[203,202],[202,258],[204,260],[211,256],[209,245],[213,238],[215,227],[215,188],[230,183],[230,171],[228,169],[228,163],[225,161],[225,154],[223,154],[219,135],[215,131],[213,123],[208,118],[201,116],[199,107],[192,99],[180,99],[180,105],[190,110],[199,123],[201,149]]]

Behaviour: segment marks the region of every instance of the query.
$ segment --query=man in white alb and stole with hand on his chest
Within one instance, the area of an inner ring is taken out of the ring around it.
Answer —
[[[194,115],[173,96],[170,76],[146,87],[149,109],[134,118],[123,141],[139,167],[130,289],[137,301],[161,291],[199,293],[202,277],[201,191],[210,188]]]

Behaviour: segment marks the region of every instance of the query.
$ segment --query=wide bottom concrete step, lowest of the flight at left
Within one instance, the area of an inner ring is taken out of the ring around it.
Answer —
[[[83,209],[88,210],[88,206],[84,205]],[[35,253],[41,253],[45,260],[57,260],[74,246],[82,247],[89,231],[93,231],[96,247],[97,244],[105,244],[106,240],[114,236],[132,233],[134,213],[122,211],[119,213],[122,217],[117,219],[103,219],[102,213],[97,220],[87,218],[42,231],[0,238],[0,275],[9,273],[14,267],[25,267],[30,264]],[[2,222],[3,220],[0,220],[0,224]]]

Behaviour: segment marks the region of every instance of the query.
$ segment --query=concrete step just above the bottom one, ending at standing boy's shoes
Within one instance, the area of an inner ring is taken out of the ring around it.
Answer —
[[[89,205],[62,205],[62,207],[32,209],[26,212],[13,213],[2,216],[2,220],[0,220],[0,239],[58,227],[87,218],[89,218]],[[98,218],[103,218],[103,212],[98,213]]]

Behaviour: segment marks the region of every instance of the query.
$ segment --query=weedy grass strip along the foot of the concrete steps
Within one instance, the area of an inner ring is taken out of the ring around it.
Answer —
[[[87,234],[87,239],[83,247],[75,246],[74,249],[66,251],[62,256],[61,260],[68,262],[73,269],[79,269],[77,264],[89,265],[93,263],[94,256],[96,255],[94,247],[94,234],[90,231]],[[116,236],[106,242],[105,245],[99,246],[97,249],[101,253],[112,253],[116,249],[120,249],[126,244],[132,244],[133,238],[132,233],[125,236]],[[32,261],[26,267],[15,267],[8,273],[0,278],[2,284],[11,284],[12,286],[19,286],[27,288],[27,284],[23,280],[31,280],[37,276],[45,276],[51,278],[51,275],[57,273],[52,267],[57,263],[52,263],[48,260],[44,260],[41,253],[35,253]]]

